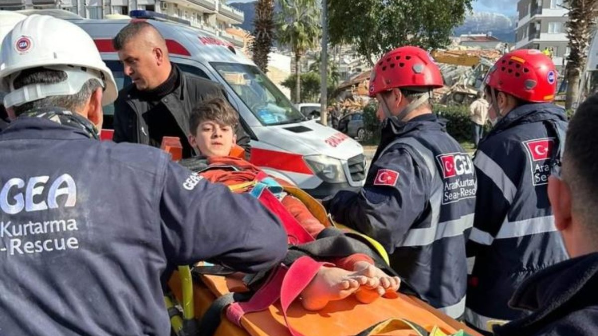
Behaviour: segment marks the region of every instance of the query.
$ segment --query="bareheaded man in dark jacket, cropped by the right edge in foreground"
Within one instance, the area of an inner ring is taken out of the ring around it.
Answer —
[[[509,304],[533,313],[502,327],[498,336],[593,336],[598,331],[598,96],[588,98],[567,130],[562,172],[553,165],[548,198],[554,224],[572,259],[526,279]]]

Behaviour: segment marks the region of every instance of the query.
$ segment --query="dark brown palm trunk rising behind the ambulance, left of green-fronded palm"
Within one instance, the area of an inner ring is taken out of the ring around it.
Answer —
[[[258,0],[255,4],[254,42],[251,51],[261,71],[268,72],[268,55],[274,41],[274,0]]]

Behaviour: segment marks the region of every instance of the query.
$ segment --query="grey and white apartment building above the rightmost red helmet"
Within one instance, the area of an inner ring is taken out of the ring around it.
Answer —
[[[568,10],[563,0],[520,0],[515,48],[552,50],[553,62],[559,71],[565,69],[569,55],[566,33]]]

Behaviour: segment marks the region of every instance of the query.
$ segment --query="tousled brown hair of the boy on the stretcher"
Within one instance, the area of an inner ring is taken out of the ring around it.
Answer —
[[[239,126],[239,113],[222,97],[208,97],[191,111],[189,118],[191,135],[195,135],[199,124],[206,121],[213,121],[220,126],[230,126],[236,130]]]

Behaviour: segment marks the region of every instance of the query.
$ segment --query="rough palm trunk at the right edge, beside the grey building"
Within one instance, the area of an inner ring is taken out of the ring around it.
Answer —
[[[567,97],[565,108],[571,108],[579,94],[579,78],[588,58],[590,37],[596,26],[598,0],[565,0],[569,9],[567,37],[569,38],[569,58],[566,66]]]

